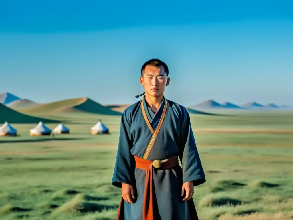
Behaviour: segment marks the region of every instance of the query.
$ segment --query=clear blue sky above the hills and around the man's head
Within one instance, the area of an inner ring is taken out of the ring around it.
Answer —
[[[142,64],[166,98],[293,105],[293,1],[0,1],[0,93],[134,103]],[[140,92],[143,88],[140,87]]]

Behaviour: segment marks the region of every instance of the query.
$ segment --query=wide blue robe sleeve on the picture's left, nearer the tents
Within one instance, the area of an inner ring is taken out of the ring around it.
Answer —
[[[124,111],[121,116],[119,142],[112,178],[112,185],[120,188],[122,183],[133,185],[134,180],[135,163],[134,156],[130,152],[133,146],[130,140],[130,125],[129,114]]]

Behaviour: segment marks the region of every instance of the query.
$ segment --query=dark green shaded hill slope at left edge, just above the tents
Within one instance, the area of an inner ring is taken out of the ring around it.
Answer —
[[[11,108],[8,108],[4,104],[0,104],[0,123],[39,123],[40,121],[44,123],[60,123],[57,120],[45,119],[34,117],[26,114],[22,114]]]

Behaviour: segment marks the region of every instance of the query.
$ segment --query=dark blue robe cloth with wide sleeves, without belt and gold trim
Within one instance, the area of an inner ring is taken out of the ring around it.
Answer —
[[[147,118],[155,130],[163,113],[164,100],[165,97],[156,114],[147,106],[145,99],[132,104],[122,114],[112,184],[122,187],[122,183],[127,183],[135,189],[134,204],[123,201],[125,220],[142,220],[146,170],[135,167],[134,155],[143,157],[152,132],[142,114],[141,102],[144,102]],[[178,165],[166,170],[153,169],[154,205],[158,215],[154,219],[193,220],[187,202],[182,201],[182,185],[184,182],[200,185],[206,181],[205,174],[188,111],[184,106],[167,100],[166,115],[147,160],[164,160],[173,156],[179,156],[182,168]]]

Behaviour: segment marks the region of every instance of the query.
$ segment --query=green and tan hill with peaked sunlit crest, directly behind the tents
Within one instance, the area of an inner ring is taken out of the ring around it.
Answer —
[[[84,112],[93,114],[105,115],[121,115],[121,112],[113,111],[107,106],[103,106],[89,98],[75,98],[55,101],[30,109],[19,109],[23,113],[70,113],[70,112]]]

